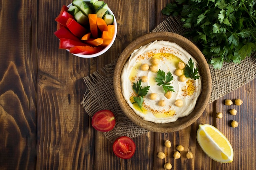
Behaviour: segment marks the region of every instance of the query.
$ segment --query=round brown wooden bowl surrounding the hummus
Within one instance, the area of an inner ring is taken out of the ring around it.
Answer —
[[[183,49],[188,51],[198,62],[198,69],[202,79],[202,92],[198,97],[197,104],[194,110],[186,117],[178,118],[177,121],[166,123],[166,124],[156,124],[151,121],[143,120],[139,115],[137,115],[132,108],[127,104],[121,91],[121,72],[124,64],[130,57],[131,53],[138,49],[139,47],[146,45],[155,40],[165,40],[169,42],[175,42],[180,45]],[[114,71],[114,91],[117,101],[124,111],[126,116],[132,120],[138,126],[145,128],[153,132],[174,132],[186,128],[195,122],[204,112],[210,98],[211,94],[211,74],[207,61],[201,51],[188,39],[181,35],[170,33],[170,32],[154,32],[148,33],[146,35],[137,38],[131,42],[121,53]]]

